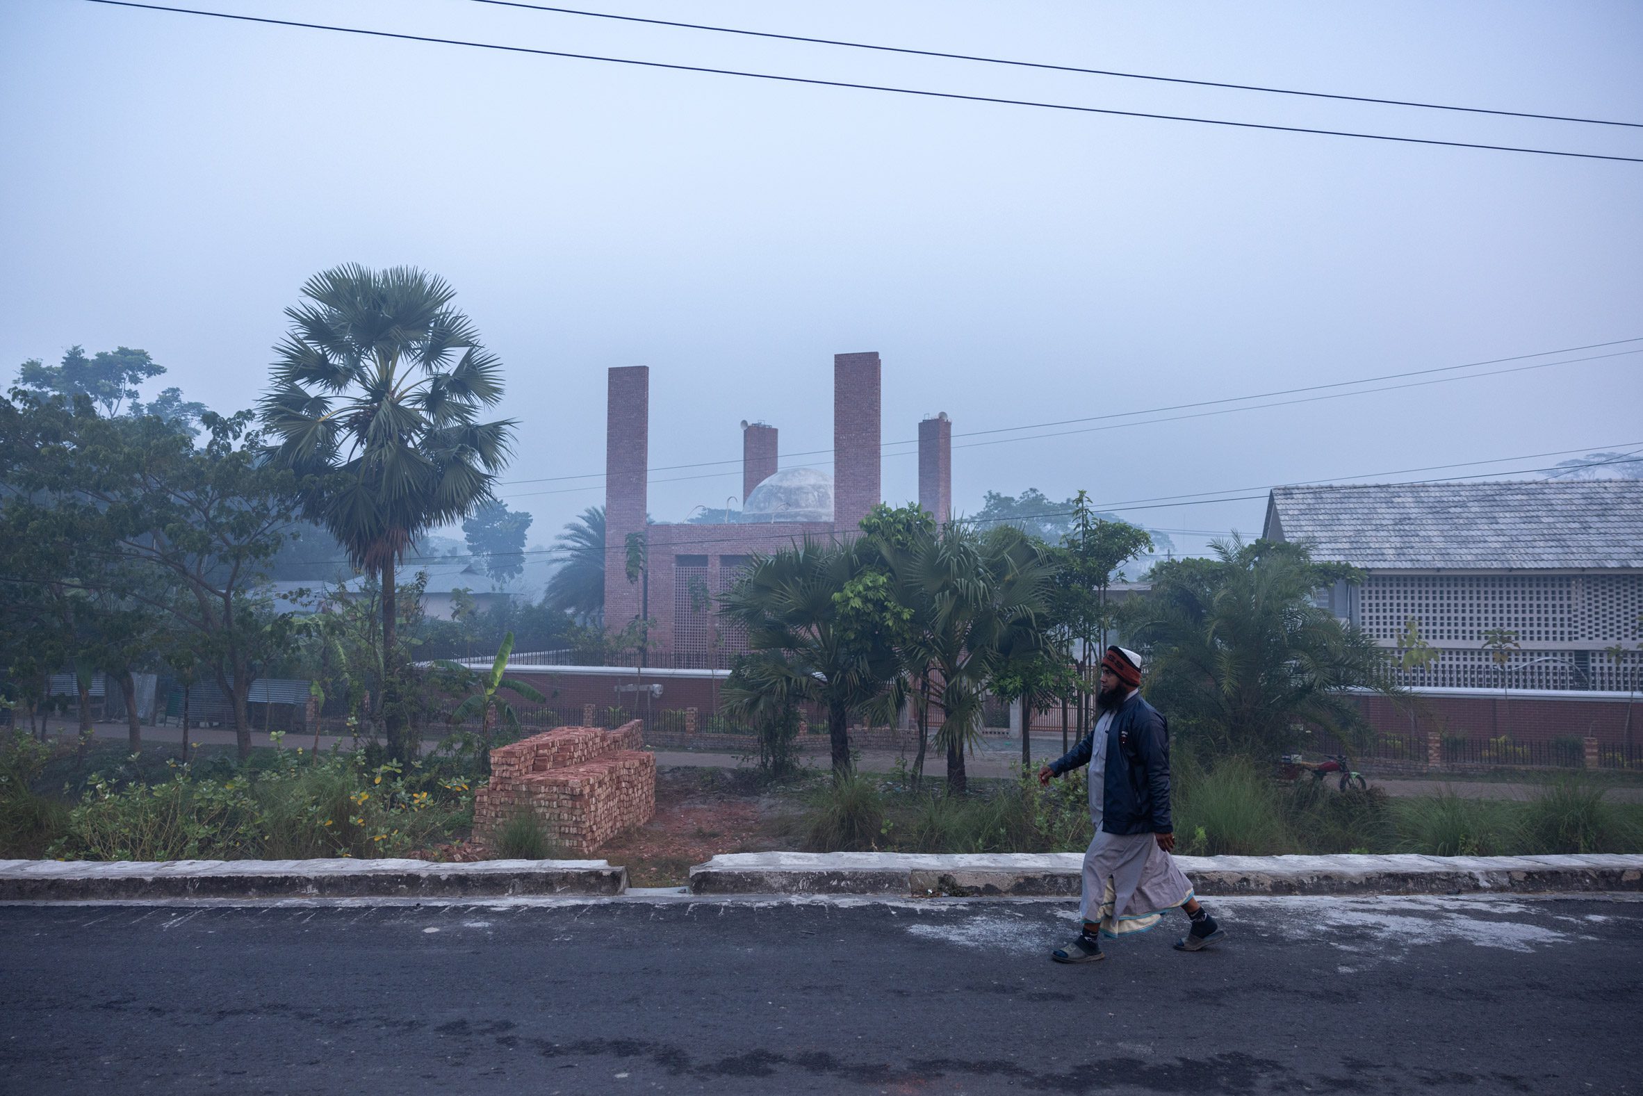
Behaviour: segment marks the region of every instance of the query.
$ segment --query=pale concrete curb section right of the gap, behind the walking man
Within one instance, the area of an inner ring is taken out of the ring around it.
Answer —
[[[1178,856],[1204,897],[1643,891],[1643,856]],[[690,869],[692,894],[1076,897],[1081,853],[733,853]]]

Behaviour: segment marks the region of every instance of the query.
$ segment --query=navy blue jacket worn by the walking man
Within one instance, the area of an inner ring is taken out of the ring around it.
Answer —
[[[1096,733],[1084,735],[1050,762],[1056,776],[1089,764]],[[1107,833],[1171,833],[1170,725],[1135,693],[1107,725],[1107,771],[1102,781],[1102,820]]]

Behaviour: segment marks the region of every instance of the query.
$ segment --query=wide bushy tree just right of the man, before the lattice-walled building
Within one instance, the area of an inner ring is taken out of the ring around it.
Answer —
[[[1367,733],[1351,690],[1397,695],[1387,652],[1311,600],[1362,573],[1314,562],[1301,544],[1213,547],[1216,559],[1155,565],[1152,592],[1125,603],[1125,636],[1152,656],[1147,698],[1181,733],[1255,758],[1313,726],[1344,739]]]

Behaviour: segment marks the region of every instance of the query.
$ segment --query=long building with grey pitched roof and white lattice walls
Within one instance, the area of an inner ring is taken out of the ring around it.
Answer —
[[[1318,603],[1383,647],[1413,619],[1438,659],[1410,685],[1627,690],[1643,670],[1643,481],[1280,486],[1263,536],[1367,572]],[[1490,629],[1516,633],[1505,670]]]

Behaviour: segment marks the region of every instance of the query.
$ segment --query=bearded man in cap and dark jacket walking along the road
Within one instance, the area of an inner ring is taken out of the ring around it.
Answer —
[[[1193,897],[1193,884],[1176,868],[1170,822],[1170,728],[1140,698],[1140,656],[1107,647],[1101,659],[1101,716],[1065,756],[1038,769],[1038,782],[1089,766],[1089,820],[1096,836],[1084,853],[1079,900],[1083,932],[1050,953],[1056,963],[1094,963],[1106,958],[1101,937],[1147,932],[1163,910],[1181,907],[1191,927],[1175,942],[1180,951],[1199,951],[1226,940],[1226,930]]]

